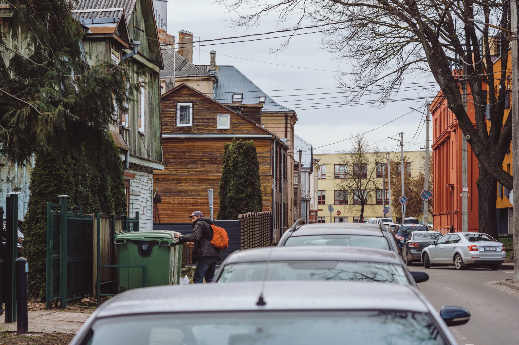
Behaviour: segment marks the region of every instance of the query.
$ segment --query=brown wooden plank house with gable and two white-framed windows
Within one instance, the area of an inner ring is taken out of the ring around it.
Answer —
[[[209,216],[208,189],[214,192],[216,218],[224,144],[233,138],[254,140],[263,211],[279,208],[274,199],[280,199],[281,157],[286,156],[288,146],[276,134],[184,83],[162,95],[161,109],[165,168],[155,173],[154,187],[161,200],[154,222],[187,222],[196,210]],[[283,192],[286,195],[286,188]]]

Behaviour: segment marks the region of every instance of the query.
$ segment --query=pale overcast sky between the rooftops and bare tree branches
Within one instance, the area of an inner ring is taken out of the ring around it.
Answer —
[[[203,40],[277,30],[274,22],[266,20],[260,26],[251,30],[236,32],[227,28],[229,23],[226,21],[234,16],[236,16],[235,13],[227,13],[223,5],[214,4],[211,0],[169,0],[168,33],[177,37],[179,30],[186,30],[193,32],[194,36],[201,36]],[[337,88],[335,71],[339,68],[343,71],[348,70],[348,61],[337,62],[333,60],[331,53],[323,49],[320,43],[321,39],[322,36],[318,33],[295,36],[291,39],[289,47],[277,54],[269,53],[269,48],[278,47],[282,38],[205,46],[200,48],[201,63],[209,63],[209,51],[214,49],[217,54],[216,64],[236,66],[238,70],[277,102],[296,109],[299,120],[295,125],[295,132],[312,144],[315,148],[315,154],[348,150],[351,148],[351,140],[345,139],[358,133],[373,130],[409,112],[411,113],[389,125],[368,132],[365,136],[371,144],[378,146],[379,149],[391,151],[397,149],[398,142],[386,139],[386,136],[396,138],[397,134],[403,131],[404,143],[406,143],[404,149],[414,150],[424,147],[425,126],[423,120],[420,122],[422,114],[412,112],[408,106],[424,111],[424,104],[427,101],[432,101],[432,98],[392,102],[382,108],[370,105],[348,106],[344,104],[344,99],[340,93],[331,92],[340,91]],[[194,40],[198,39],[195,38]],[[193,51],[193,63],[198,64],[198,49],[196,47]],[[313,68],[313,70],[280,65]],[[425,74],[420,77],[422,77],[420,80],[432,80]],[[438,90],[437,87],[429,91],[415,85],[406,85],[406,87],[407,90],[400,92],[395,98],[434,96],[436,90]],[[304,88],[322,89],[289,91],[289,89]],[[326,92],[330,94],[296,96]],[[331,102],[337,103],[332,104]],[[305,103],[312,103],[313,108],[299,110],[298,108],[305,107]],[[415,135],[415,133],[417,134]],[[415,138],[412,140],[413,136]],[[339,143],[329,145],[335,142]],[[323,145],[327,146],[321,147]]]

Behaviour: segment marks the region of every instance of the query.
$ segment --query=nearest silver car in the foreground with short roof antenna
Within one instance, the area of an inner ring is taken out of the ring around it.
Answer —
[[[402,301],[405,301],[403,303]],[[461,307],[436,312],[413,286],[357,282],[248,282],[132,289],[104,302],[71,345],[456,345],[447,326]]]

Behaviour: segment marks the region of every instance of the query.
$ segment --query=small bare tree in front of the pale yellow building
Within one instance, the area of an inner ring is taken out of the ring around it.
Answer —
[[[378,149],[370,147],[363,135],[354,137],[352,144],[352,150],[336,165],[334,177],[338,189],[334,199],[339,200],[339,204],[348,205],[352,212],[357,212],[360,206],[362,222],[366,206],[376,203],[377,190],[382,188],[377,180],[377,165],[384,161],[384,157],[380,156]]]

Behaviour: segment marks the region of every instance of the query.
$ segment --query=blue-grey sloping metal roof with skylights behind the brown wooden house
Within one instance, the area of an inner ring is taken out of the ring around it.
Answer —
[[[260,104],[260,96],[265,96],[262,113],[294,112],[292,109],[276,103],[235,66],[216,66],[216,73],[218,80],[214,94],[218,102],[233,103],[233,93],[243,93],[243,104]]]

